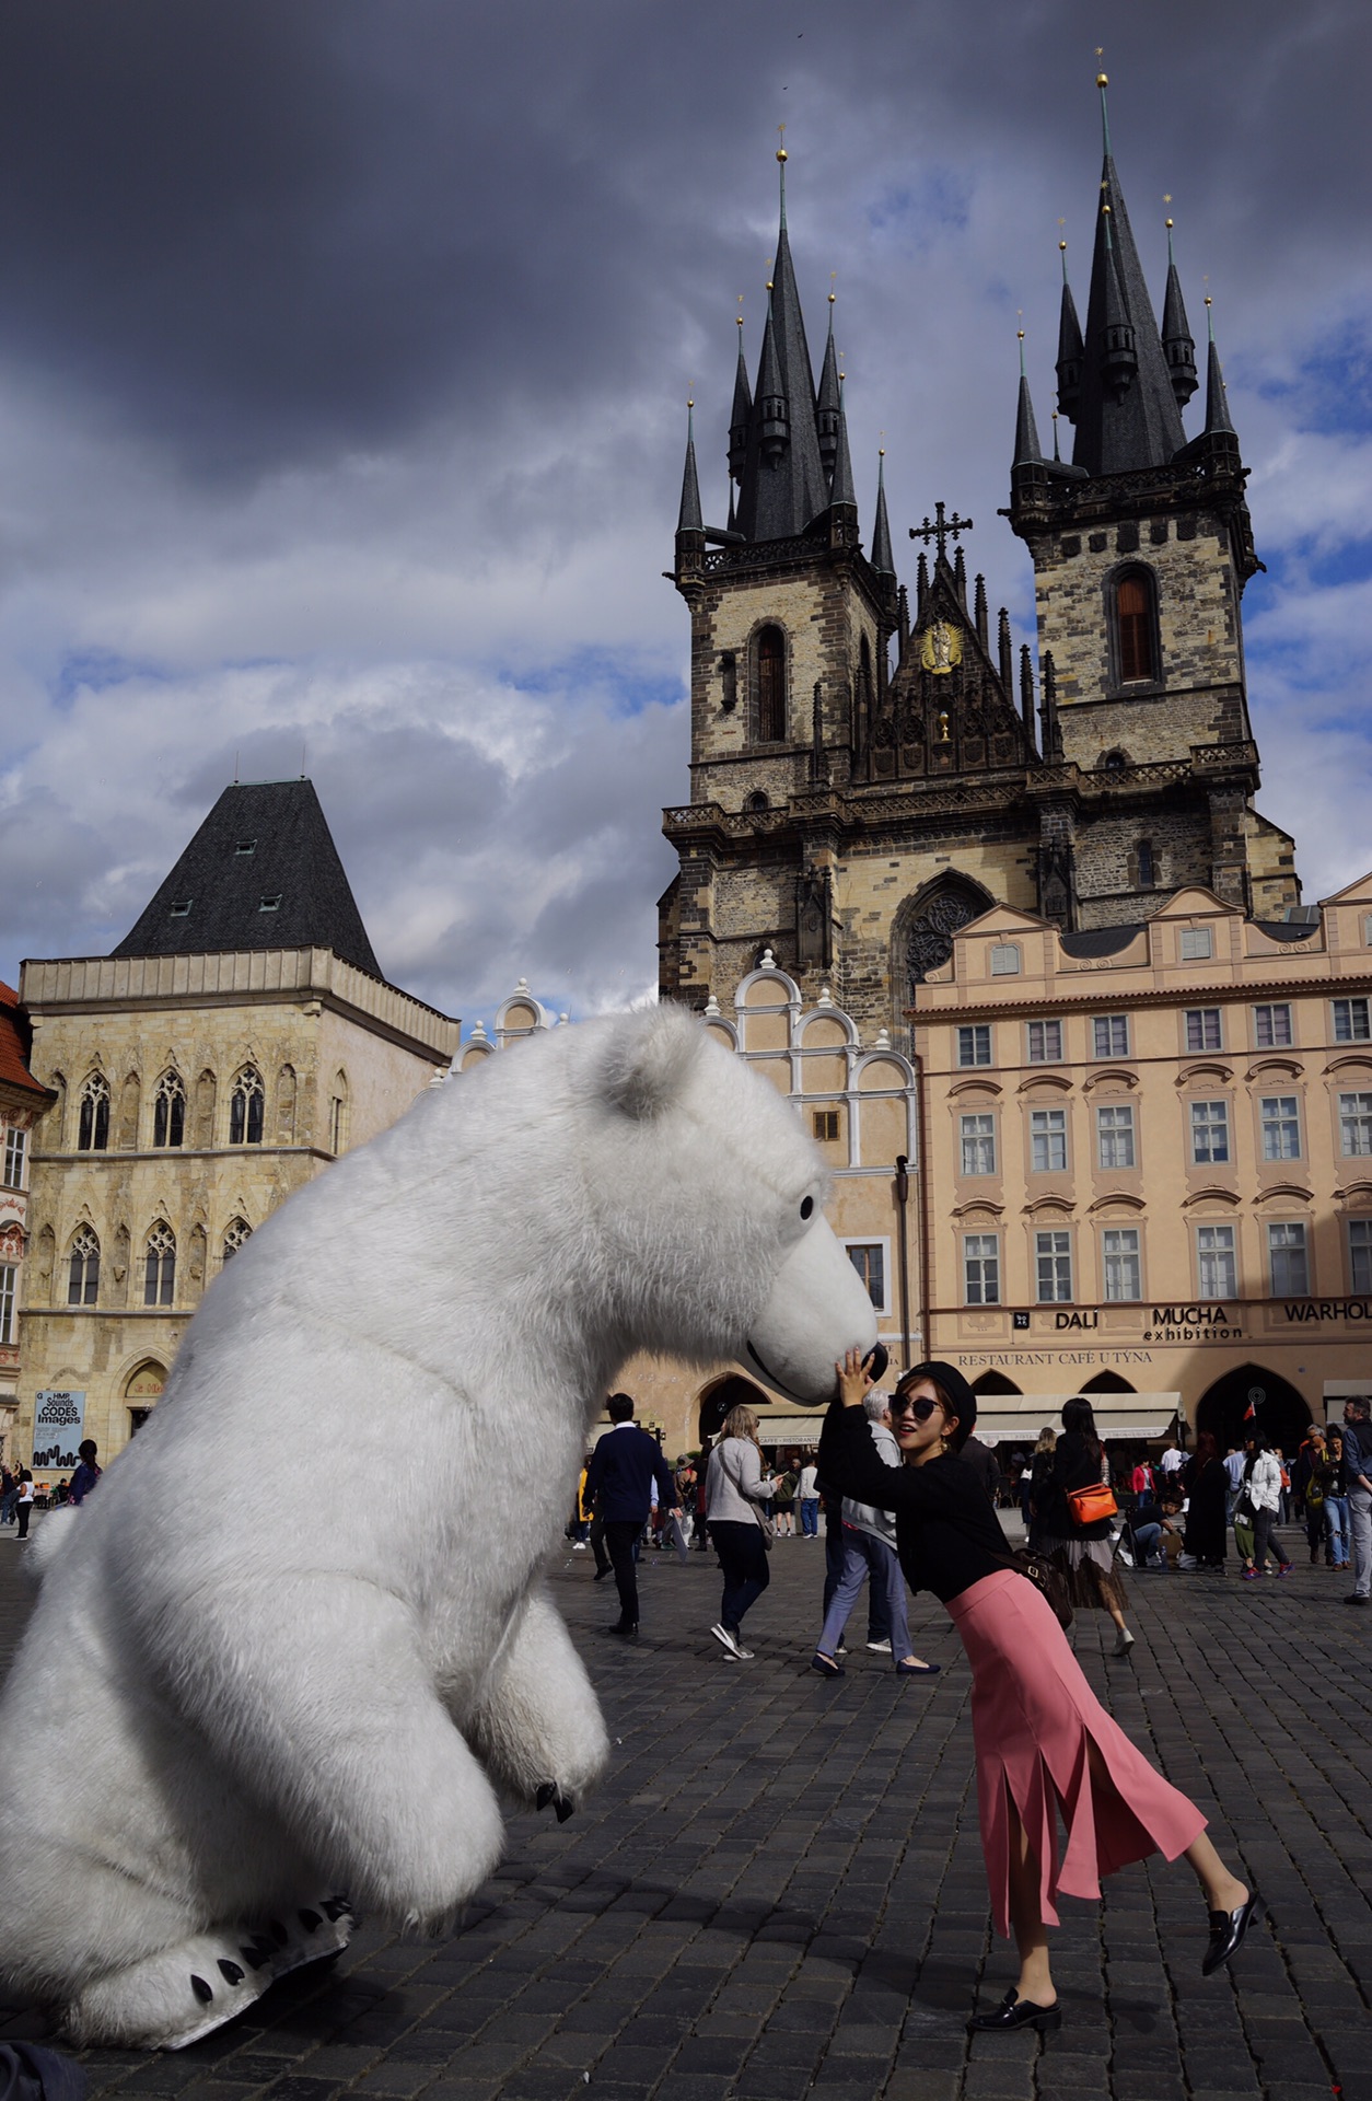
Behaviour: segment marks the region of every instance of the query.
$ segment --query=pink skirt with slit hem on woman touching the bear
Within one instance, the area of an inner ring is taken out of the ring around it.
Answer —
[[[973,1670],[977,1809],[996,1933],[1011,1933],[1011,1805],[1038,1861],[1051,1927],[1059,1895],[1099,1897],[1103,1874],[1149,1853],[1185,1853],[1206,1819],[1105,1712],[1042,1593],[996,1569],[954,1597],[948,1614]],[[1090,1771],[1090,1746],[1103,1777]]]

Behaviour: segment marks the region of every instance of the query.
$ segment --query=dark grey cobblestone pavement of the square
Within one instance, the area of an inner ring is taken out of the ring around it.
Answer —
[[[23,1614],[0,1536],[0,1637]],[[607,1784],[559,1826],[513,1815],[508,1855],[448,1941],[363,1927],[336,1969],[275,1988],[189,2051],[90,2051],[95,2095],[187,2101],[1372,2101],[1372,1614],[1345,1576],[1137,1576],[1132,1660],[1078,1620],[1105,1704],[1212,1819],[1271,1908],[1202,1979],[1185,1866],[1137,1866],[1055,1935],[1061,2034],[971,2040],[973,1994],[1013,1977],[977,1843],[969,1672],[897,1681],[861,1647],[807,1670],[819,1544],[777,1542],[748,1620],[708,1637],[712,1557],[645,1557],[643,1637],[599,1635],[614,1582],[559,1553],[553,1593],[614,1740]],[[861,1605],[859,1605],[861,1611]],[[2,1891],[0,1891],[2,1901]],[[32,2017],[8,2034],[38,2034]]]

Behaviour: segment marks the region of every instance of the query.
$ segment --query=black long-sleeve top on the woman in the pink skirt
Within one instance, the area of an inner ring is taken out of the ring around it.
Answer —
[[[895,1551],[912,1590],[933,1590],[948,1605],[983,1576],[1009,1567],[985,1490],[952,1452],[922,1466],[887,1466],[866,1412],[832,1401],[819,1433],[819,1473],[855,1502],[895,1513]]]

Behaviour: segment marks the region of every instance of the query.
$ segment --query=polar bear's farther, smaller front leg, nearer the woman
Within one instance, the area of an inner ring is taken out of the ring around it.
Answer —
[[[561,1614],[536,1593],[500,1653],[469,1731],[492,1780],[527,1807],[569,1817],[609,1763],[586,1666]]]

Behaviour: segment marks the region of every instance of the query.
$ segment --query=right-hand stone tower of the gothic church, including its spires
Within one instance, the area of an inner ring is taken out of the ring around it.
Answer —
[[[1099,90],[1105,164],[1084,334],[1061,244],[1057,399],[1076,445],[1069,464],[1042,456],[1021,376],[1004,513],[1034,557],[1053,756],[1072,777],[1059,805],[1072,910],[1048,916],[1076,927],[1132,922],[1141,893],[1158,901],[1202,882],[1277,920],[1301,887],[1292,840],[1252,807],[1259,752],[1240,601],[1261,563],[1248,471],[1212,324],[1204,429],[1187,441],[1181,412],[1198,370],[1172,221],[1160,330],[1109,147],[1103,74]],[[1107,794],[1097,792],[1101,775]]]

